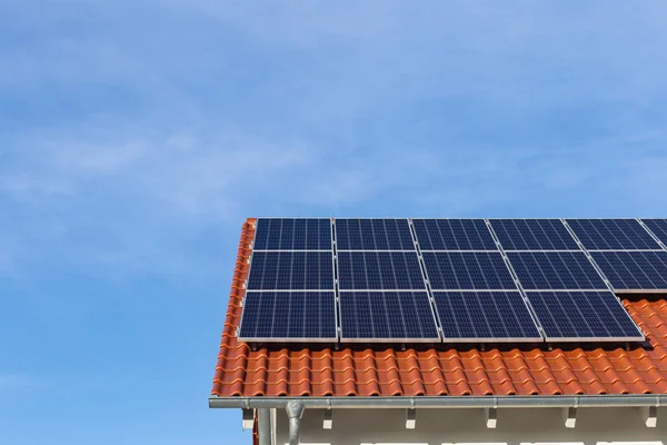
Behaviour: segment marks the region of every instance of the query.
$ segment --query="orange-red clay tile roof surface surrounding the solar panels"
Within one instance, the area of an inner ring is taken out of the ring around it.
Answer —
[[[645,347],[502,350],[315,344],[251,348],[237,340],[255,220],[243,224],[216,366],[216,396],[667,394],[667,300],[624,300]],[[407,345],[410,346],[410,345]],[[518,346],[518,345],[517,345]]]

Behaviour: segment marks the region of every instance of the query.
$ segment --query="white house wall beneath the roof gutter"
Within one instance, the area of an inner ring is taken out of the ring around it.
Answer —
[[[415,429],[406,429],[405,409],[335,409],[332,429],[322,429],[322,411],[305,411],[302,444],[667,445],[667,415],[658,411],[657,428],[647,428],[639,408],[579,408],[576,428],[565,427],[559,408],[498,409],[496,429],[486,427],[482,409],[420,409]],[[287,415],[278,409],[276,418],[282,445]]]

